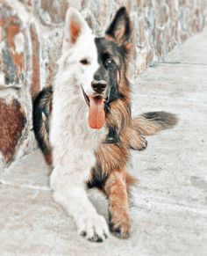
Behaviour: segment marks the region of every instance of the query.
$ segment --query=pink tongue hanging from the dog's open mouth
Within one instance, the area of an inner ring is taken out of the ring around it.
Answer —
[[[105,112],[103,110],[103,97],[89,97],[89,126],[94,129],[103,128]]]

